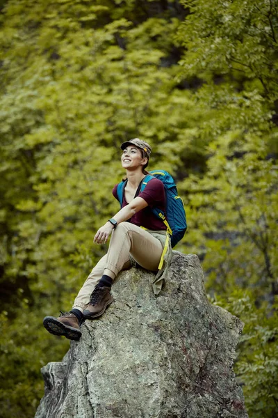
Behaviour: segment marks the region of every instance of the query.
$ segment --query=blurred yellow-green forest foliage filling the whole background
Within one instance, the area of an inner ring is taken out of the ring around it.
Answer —
[[[278,413],[277,0],[0,1],[0,416],[31,418],[40,367],[106,251],[120,144],[153,146],[186,204],[176,247],[245,322],[235,371],[250,418]]]

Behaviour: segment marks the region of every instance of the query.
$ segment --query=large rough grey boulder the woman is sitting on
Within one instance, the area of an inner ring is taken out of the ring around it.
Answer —
[[[174,251],[158,297],[153,279],[119,275],[111,307],[43,367],[35,418],[247,418],[233,372],[243,323],[208,302],[197,256]]]

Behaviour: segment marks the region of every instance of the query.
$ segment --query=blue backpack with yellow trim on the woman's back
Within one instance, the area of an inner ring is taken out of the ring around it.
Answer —
[[[186,224],[186,211],[183,206],[183,201],[181,197],[177,194],[177,186],[174,183],[174,179],[170,176],[167,171],[164,170],[153,170],[149,172],[147,176],[144,178],[140,192],[143,192],[149,180],[156,177],[158,180],[161,180],[164,189],[165,189],[165,196],[166,196],[166,213],[165,214],[159,210],[158,208],[152,208],[152,212],[156,217],[161,219],[163,223],[167,226],[167,231],[170,233],[171,236],[171,245],[174,248],[175,245],[183,238],[183,235],[186,232],[187,224]],[[127,180],[122,181],[117,185],[117,197],[120,201],[120,205],[122,208],[122,201],[124,199],[124,187],[127,183]]]

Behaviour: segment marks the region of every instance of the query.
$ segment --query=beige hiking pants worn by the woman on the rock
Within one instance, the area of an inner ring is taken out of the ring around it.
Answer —
[[[106,268],[116,275],[121,270],[130,268],[130,254],[142,268],[156,271],[162,252],[163,244],[145,229],[129,222],[121,222],[113,230],[107,254],[90,272],[74,300],[73,308],[85,309]]]

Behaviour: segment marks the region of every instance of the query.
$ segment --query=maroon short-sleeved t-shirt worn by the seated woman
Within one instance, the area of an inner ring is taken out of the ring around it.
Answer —
[[[117,185],[113,187],[112,193],[113,196],[119,200],[117,198]],[[166,226],[163,224],[163,221],[158,219],[152,212],[152,208],[158,208],[166,215],[165,191],[162,181],[158,180],[158,178],[152,178],[152,180],[148,181],[144,191],[134,197],[142,197],[142,199],[147,202],[148,206],[147,208],[139,210],[139,212],[133,215],[128,222],[137,226],[144,226],[144,228],[151,229],[152,231],[165,230]],[[124,196],[122,208],[127,204]]]

